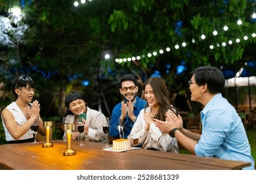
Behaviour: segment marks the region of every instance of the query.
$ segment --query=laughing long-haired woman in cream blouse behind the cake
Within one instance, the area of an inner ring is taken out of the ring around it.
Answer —
[[[143,89],[147,101],[146,108],[140,110],[128,139],[132,139],[133,146],[179,153],[177,140],[161,132],[154,124],[154,118],[165,121],[165,112],[168,110],[177,114],[177,110],[169,103],[165,82],[159,77],[152,77],[143,84]]]

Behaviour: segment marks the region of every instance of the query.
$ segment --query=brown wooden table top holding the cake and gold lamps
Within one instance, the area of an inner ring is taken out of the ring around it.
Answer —
[[[85,142],[79,146],[73,141],[74,156],[63,156],[66,142],[53,141],[53,147],[42,143],[0,145],[0,169],[17,170],[186,170],[186,169],[242,169],[251,163],[204,158],[188,154],[173,154],[156,150],[130,150],[110,152],[102,150],[104,144]]]

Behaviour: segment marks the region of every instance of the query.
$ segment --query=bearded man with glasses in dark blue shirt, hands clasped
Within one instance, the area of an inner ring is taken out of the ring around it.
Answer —
[[[118,103],[112,110],[110,137],[127,139],[140,110],[145,107],[146,101],[137,96],[139,86],[134,75],[122,76],[118,86],[123,101]]]

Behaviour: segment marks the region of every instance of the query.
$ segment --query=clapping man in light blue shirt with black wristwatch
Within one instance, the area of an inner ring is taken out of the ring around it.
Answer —
[[[202,135],[182,127],[181,116],[167,112],[166,122],[157,121],[161,131],[175,137],[184,148],[196,156],[251,162],[243,169],[255,169],[251,147],[244,125],[235,108],[221,95],[225,80],[223,73],[210,66],[199,67],[188,82],[191,100],[201,103]]]

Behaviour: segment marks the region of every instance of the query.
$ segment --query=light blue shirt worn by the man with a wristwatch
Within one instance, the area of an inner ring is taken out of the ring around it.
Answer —
[[[196,156],[248,161],[251,166],[244,169],[255,169],[242,120],[221,93],[205,105],[201,120],[202,136],[194,148]]]

